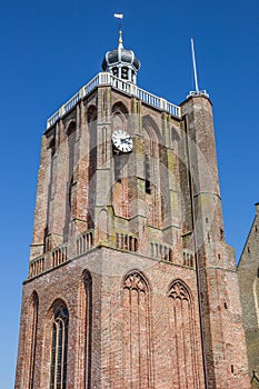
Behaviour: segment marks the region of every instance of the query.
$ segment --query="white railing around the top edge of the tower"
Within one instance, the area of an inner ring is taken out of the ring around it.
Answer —
[[[143,101],[145,103],[152,106],[159,110],[169,112],[170,114],[177,118],[181,117],[180,107],[175,106],[162,98],[159,98],[152,93],[147,92],[143,89],[138,88],[135,83],[121,80],[118,77],[114,77],[108,72],[100,72],[90,82],[83,86],[78,93],[76,93],[68,102],[61,106],[60,109],[47,120],[47,129],[53,126],[56,121],[58,121],[60,118],[67,114],[70,110],[72,110],[81,99],[87,97],[93,91],[93,89],[96,89],[99,86],[110,86],[123,93],[133,96]]]

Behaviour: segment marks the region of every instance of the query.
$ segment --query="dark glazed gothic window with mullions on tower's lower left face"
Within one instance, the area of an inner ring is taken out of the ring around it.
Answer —
[[[61,303],[54,311],[52,325],[50,389],[67,387],[68,323],[68,309]]]

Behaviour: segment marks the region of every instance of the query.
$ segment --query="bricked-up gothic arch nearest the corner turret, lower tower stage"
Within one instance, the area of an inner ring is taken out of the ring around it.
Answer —
[[[168,293],[169,339],[172,388],[200,387],[197,366],[197,332],[190,291],[181,280],[176,280]]]

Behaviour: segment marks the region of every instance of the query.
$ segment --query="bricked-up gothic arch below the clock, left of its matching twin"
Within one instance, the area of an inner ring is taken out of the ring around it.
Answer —
[[[123,282],[123,388],[152,388],[149,288],[138,271]]]

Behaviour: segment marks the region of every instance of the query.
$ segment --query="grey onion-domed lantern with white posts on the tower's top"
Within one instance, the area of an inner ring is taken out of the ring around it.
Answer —
[[[136,76],[140,69],[140,61],[132,50],[126,50],[122,44],[122,31],[119,31],[118,49],[108,51],[102,61],[102,70],[113,76],[136,83]]]

